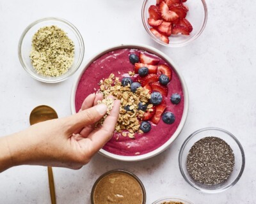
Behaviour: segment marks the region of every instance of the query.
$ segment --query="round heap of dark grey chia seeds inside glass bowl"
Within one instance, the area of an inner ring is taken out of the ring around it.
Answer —
[[[189,175],[202,184],[225,182],[231,175],[235,156],[231,147],[221,138],[209,136],[198,140],[187,157]]]

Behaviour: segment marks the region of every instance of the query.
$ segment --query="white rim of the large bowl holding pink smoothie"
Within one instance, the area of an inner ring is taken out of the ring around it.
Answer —
[[[88,66],[90,66],[90,64],[93,61],[95,61],[95,59],[99,58],[101,55],[106,54],[107,52],[110,52],[112,50],[120,49],[120,48],[137,48],[137,49],[141,49],[141,50],[146,50],[148,52],[151,52],[152,54],[156,54],[156,55],[159,55],[159,57],[162,57],[166,62],[168,62],[170,65],[172,65],[173,70],[179,77],[180,83],[182,85],[183,94],[184,94],[184,110],[182,113],[182,119],[180,120],[180,124],[179,124],[178,128],[176,129],[175,133],[173,133],[173,135],[169,138],[169,140],[167,140],[166,143],[161,145],[161,147],[153,150],[152,152],[148,152],[147,154],[142,154],[142,155],[138,155],[138,156],[120,156],[117,154],[107,152],[104,149],[99,150],[100,154],[102,154],[106,157],[109,157],[111,159],[116,159],[116,160],[120,160],[120,161],[141,161],[141,160],[156,156],[157,154],[160,154],[161,152],[166,150],[170,146],[170,144],[179,136],[180,132],[182,131],[182,128],[184,127],[186,119],[188,117],[189,96],[188,96],[188,88],[186,86],[186,82],[185,82],[184,78],[182,77],[182,75],[180,74],[177,64],[175,64],[172,61],[172,59],[170,59],[170,57],[168,57],[166,54],[157,50],[156,48],[150,47],[148,45],[142,45],[142,44],[115,45],[113,47],[109,47],[107,49],[104,49],[103,51],[98,52],[97,54],[95,54],[91,59],[89,59],[86,62],[83,69],[80,69],[80,73],[77,76],[77,78],[73,84],[72,91],[71,91],[71,103],[70,103],[71,112],[72,112],[72,114],[76,113],[76,106],[75,106],[76,89],[77,89],[77,85],[78,85],[79,80],[82,77],[84,71],[88,68]]]

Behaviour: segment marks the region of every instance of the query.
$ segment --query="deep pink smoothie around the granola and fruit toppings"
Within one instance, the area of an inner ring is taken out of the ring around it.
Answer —
[[[159,59],[159,64],[168,64],[157,55],[150,54],[144,50],[131,48],[117,49],[101,55],[88,66],[79,81],[75,101],[76,112],[81,108],[86,96],[99,90],[98,84],[102,78],[108,78],[111,73],[114,73],[116,77],[120,77],[121,79],[125,73],[128,73],[128,71],[133,71],[134,65],[129,61],[129,55],[132,53],[140,54],[140,52]],[[168,66],[170,66],[170,64],[168,64]],[[170,101],[170,97],[173,93],[179,93],[181,96],[181,101],[178,105],[173,105]],[[124,137],[120,133],[114,133],[113,138],[103,147],[103,149],[122,156],[138,156],[152,152],[158,147],[161,147],[161,145],[172,137],[180,124],[184,110],[182,85],[179,77],[173,70],[172,80],[168,84],[166,103],[167,108],[165,111],[173,112],[175,115],[175,122],[173,124],[165,124],[161,119],[159,124],[152,124],[152,129],[149,133],[136,134],[135,139],[131,139],[128,136]],[[118,140],[116,140],[116,138],[118,138]]]

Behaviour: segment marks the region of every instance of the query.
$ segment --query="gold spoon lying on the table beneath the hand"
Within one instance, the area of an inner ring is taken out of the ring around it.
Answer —
[[[35,107],[29,115],[29,123],[31,126],[38,122],[43,122],[45,120],[52,120],[52,119],[58,119],[58,115],[53,108],[45,105]],[[48,166],[47,170],[48,170],[51,202],[52,204],[56,204],[56,194],[55,194],[54,179],[53,179],[51,166]]]

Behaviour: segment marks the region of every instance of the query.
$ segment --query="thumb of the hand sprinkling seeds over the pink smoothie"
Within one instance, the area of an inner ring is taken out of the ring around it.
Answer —
[[[98,122],[107,113],[107,110],[108,106],[100,104],[67,117],[68,123],[71,126],[70,131],[73,132],[79,128]]]

